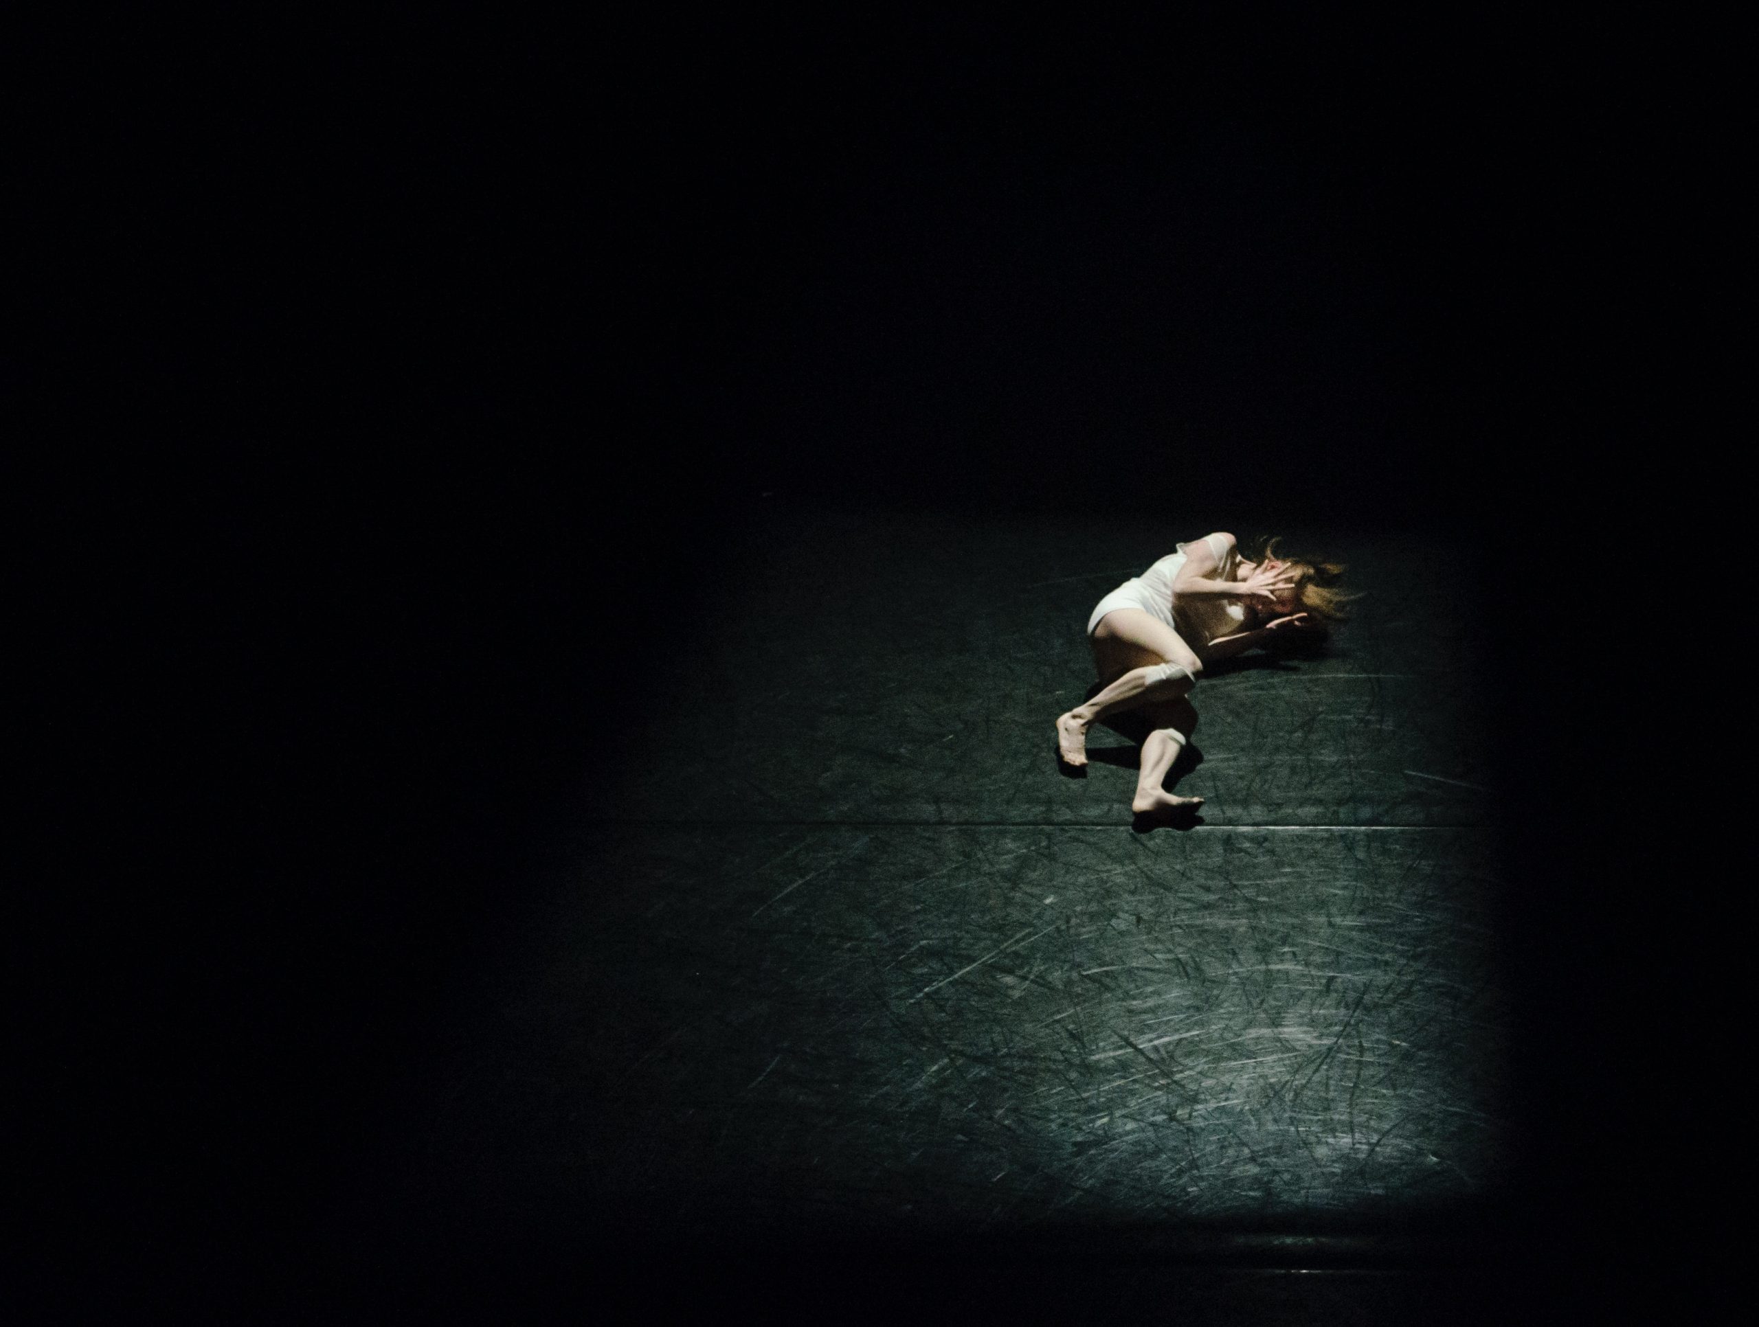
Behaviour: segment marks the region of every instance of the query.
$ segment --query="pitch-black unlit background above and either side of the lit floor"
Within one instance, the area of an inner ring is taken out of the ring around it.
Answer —
[[[1319,14],[46,44],[42,1230],[216,1267],[322,1223],[536,828],[616,779],[681,649],[654,587],[712,592],[755,504],[1131,508],[1481,543],[1532,1220],[1685,1265],[1699,932],[1634,914],[1678,868],[1631,743],[1676,738],[1615,617],[1666,589],[1632,550],[1704,536],[1662,476],[1726,362],[1712,49]]]

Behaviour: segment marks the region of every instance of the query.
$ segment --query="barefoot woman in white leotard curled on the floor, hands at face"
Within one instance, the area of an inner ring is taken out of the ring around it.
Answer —
[[[1231,534],[1180,543],[1140,576],[1105,596],[1087,619],[1101,689],[1057,719],[1057,754],[1087,765],[1087,728],[1140,710],[1152,731],[1142,743],[1142,773],[1131,810],[1138,816],[1194,809],[1161,787],[1198,726],[1191,689],[1203,666],[1252,647],[1275,649],[1325,636],[1344,620],[1344,568],[1275,557],[1270,540],[1256,559],[1240,557]]]

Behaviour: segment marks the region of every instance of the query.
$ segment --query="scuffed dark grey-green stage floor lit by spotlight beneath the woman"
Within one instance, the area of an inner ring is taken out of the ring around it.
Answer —
[[[1476,573],[1286,531],[1356,620],[1207,675],[1207,803],[1143,831],[1128,740],[1064,777],[1052,719],[1092,603],[1207,529],[765,508],[607,624],[633,761],[362,1176],[368,1257],[1471,1265],[1514,1149]]]

